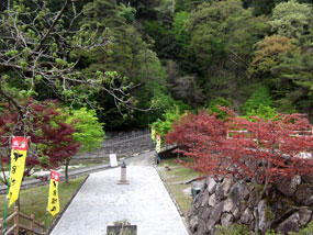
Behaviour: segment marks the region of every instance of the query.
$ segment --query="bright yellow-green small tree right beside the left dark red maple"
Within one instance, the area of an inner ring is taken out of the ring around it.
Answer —
[[[81,143],[79,153],[90,153],[96,148],[101,147],[101,143],[105,135],[103,132],[103,124],[99,123],[94,110],[87,110],[87,108],[71,110],[66,122],[72,124],[76,128],[76,132],[72,135],[76,142]]]

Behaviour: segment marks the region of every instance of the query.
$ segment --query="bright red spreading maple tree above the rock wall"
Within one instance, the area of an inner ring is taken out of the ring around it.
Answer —
[[[254,116],[246,120],[232,110],[225,122],[208,112],[189,113],[174,124],[168,144],[193,158],[189,167],[206,176],[227,176],[253,182],[255,232],[258,234],[257,205],[268,186],[278,177],[292,178],[313,171],[312,125],[301,114],[279,114],[268,121]],[[262,184],[262,190],[257,186]]]

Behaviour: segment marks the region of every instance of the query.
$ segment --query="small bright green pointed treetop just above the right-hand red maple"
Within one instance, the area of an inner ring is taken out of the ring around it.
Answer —
[[[258,88],[253,93],[253,96],[245,102],[245,104],[243,105],[243,112],[245,114],[248,114],[251,112],[258,113],[257,110],[259,109],[260,105],[262,105],[262,108],[259,110],[260,113],[265,112],[266,110],[271,112],[266,107],[271,108],[273,105],[273,102],[270,98],[270,93],[269,93],[268,89],[264,86],[258,86]],[[264,109],[266,109],[266,110],[264,110]],[[267,111],[266,111],[266,113],[267,113]]]

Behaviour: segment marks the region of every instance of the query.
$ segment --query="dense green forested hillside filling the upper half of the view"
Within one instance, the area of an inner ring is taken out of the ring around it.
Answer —
[[[312,121],[312,3],[2,1],[1,99],[16,108],[31,97],[98,108],[107,130],[216,103],[241,114],[262,104]]]

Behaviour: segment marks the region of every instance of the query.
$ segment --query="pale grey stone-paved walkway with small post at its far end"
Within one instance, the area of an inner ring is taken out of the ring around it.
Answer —
[[[124,219],[137,235],[188,235],[154,167],[128,166],[130,184],[116,184],[120,176],[120,168],[90,175],[52,235],[105,235]]]

